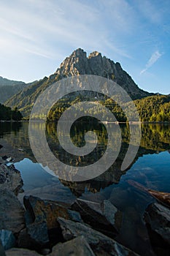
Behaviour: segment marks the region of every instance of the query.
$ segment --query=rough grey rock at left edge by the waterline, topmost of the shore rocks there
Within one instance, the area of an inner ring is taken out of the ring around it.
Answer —
[[[19,170],[15,169],[14,165],[0,165],[0,189],[10,189],[15,195],[23,187],[23,180]]]

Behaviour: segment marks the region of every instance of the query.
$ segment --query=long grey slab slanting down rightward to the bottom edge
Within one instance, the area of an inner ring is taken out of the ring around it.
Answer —
[[[63,238],[68,241],[77,236],[84,236],[95,255],[134,256],[137,255],[125,246],[118,244],[115,240],[104,236],[88,225],[80,222],[72,222],[68,219],[58,218],[61,225]]]

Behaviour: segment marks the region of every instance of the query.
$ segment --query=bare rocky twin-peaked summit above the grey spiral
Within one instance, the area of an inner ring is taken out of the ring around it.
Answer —
[[[139,89],[131,76],[125,72],[118,62],[101,56],[101,53],[94,51],[87,57],[84,50],[78,48],[66,58],[60,68],[55,72],[60,78],[72,75],[98,75],[114,80],[127,91],[133,99],[149,96],[146,91]]]

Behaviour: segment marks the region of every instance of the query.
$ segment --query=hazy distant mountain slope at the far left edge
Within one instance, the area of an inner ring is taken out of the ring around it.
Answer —
[[[29,86],[31,83],[21,81],[8,80],[0,76],[0,103],[4,103],[7,99],[17,94],[19,91]]]

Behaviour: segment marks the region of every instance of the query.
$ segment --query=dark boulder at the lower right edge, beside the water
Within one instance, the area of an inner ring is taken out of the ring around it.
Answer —
[[[161,255],[170,255],[170,208],[151,203],[144,213],[144,220],[155,250]]]

